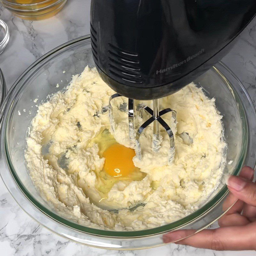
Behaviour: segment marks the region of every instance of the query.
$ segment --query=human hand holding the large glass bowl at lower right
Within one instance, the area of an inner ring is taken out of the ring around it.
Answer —
[[[195,230],[177,230],[163,236],[164,243],[190,245],[212,250],[256,250],[256,184],[252,182],[254,170],[245,166],[239,177],[230,176],[227,182],[229,193],[223,203],[227,210],[218,221],[220,228],[204,229],[196,234]],[[242,212],[243,211],[243,212]]]

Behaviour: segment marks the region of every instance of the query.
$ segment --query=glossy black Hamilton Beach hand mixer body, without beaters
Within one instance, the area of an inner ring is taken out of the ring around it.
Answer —
[[[255,0],[92,0],[94,61],[119,94],[164,97],[220,60],[255,13]]]

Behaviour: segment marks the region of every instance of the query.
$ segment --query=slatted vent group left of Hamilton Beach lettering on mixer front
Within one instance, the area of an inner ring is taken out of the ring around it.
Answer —
[[[108,70],[117,80],[142,84],[139,55],[108,44]]]

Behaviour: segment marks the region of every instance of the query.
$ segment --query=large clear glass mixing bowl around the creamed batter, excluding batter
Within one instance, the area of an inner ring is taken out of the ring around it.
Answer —
[[[222,202],[228,194],[225,174],[238,175],[244,164],[255,167],[256,113],[252,101],[237,77],[222,63],[200,76],[195,83],[208,97],[216,98],[223,115],[228,143],[224,174],[219,187],[196,212],[168,225],[139,231],[108,231],[81,226],[58,215],[37,193],[24,163],[27,127],[36,115],[37,105],[48,94],[67,86],[72,75],[86,65],[94,66],[90,36],[63,44],[31,65],[15,82],[2,108],[0,173],[14,199],[33,219],[52,232],[73,241],[110,249],[148,248],[163,244],[168,231],[209,226],[224,212]],[[56,88],[56,84],[59,87]],[[37,103],[34,99],[38,99]],[[26,111],[24,112],[23,111]]]

